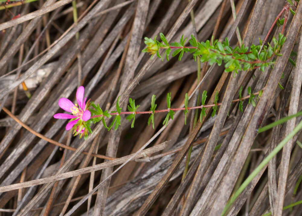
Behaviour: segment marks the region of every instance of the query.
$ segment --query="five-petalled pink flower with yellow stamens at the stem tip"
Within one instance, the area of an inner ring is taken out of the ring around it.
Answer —
[[[84,87],[80,86],[78,88],[78,90],[76,91],[76,100],[79,104],[79,107],[78,107],[77,104],[73,104],[67,98],[60,98],[59,99],[59,102],[58,102],[59,107],[61,107],[65,111],[71,112],[72,115],[66,114],[66,113],[57,113],[57,114],[54,114],[53,117],[54,118],[61,118],[61,119],[76,118],[76,120],[72,120],[66,125],[66,128],[65,128],[66,130],[70,130],[79,121],[80,124],[75,129],[78,133],[84,132],[85,127],[83,127],[81,122],[82,121],[88,121],[91,117],[91,113],[90,113],[90,111],[87,110],[87,107],[86,107],[86,104],[85,104],[87,98],[85,98],[84,101],[83,101],[83,98],[84,98]]]

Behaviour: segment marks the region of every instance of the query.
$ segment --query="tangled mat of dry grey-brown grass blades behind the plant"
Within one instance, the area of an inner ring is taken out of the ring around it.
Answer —
[[[167,92],[172,93],[172,107],[180,107],[185,93],[197,86],[192,55],[185,54],[181,62],[150,60],[141,53],[145,36],[162,32],[173,42],[182,35],[205,41],[214,34],[236,45],[238,26],[249,46],[264,38],[285,2],[234,1],[234,21],[232,1],[226,0],[78,0],[77,24],[70,2],[41,0],[1,11],[0,214],[220,215],[232,192],[301,119],[256,132],[259,126],[301,110],[302,5],[293,8],[295,16],[289,14],[283,55],[273,69],[233,77],[223,66],[201,65],[200,89],[207,90],[207,103],[213,103],[217,90],[222,102],[214,118],[193,128],[192,123],[184,124],[179,112],[165,128],[165,113],[156,114],[153,130],[147,115],[137,116],[133,129],[122,117],[117,130],[108,132],[97,124],[85,141],[65,130],[66,121],[53,118],[59,98],[74,100],[77,86],[85,86],[85,95],[110,111],[118,96],[122,110],[129,96],[140,104],[140,111],[149,110],[153,94],[157,108],[166,108]],[[11,13],[20,17],[12,19]],[[275,27],[272,35],[280,30]],[[292,50],[298,52],[296,67],[288,62]],[[27,91],[19,88],[24,81]],[[240,86],[251,86],[253,92],[264,89],[256,107],[244,102],[240,112],[236,104],[230,106]],[[9,117],[6,108],[21,122]],[[301,205],[282,211],[302,197],[300,187],[293,195],[302,174],[299,137],[300,132],[259,172],[227,215],[301,214]],[[72,148],[59,148],[57,142]],[[148,149],[87,196],[146,143]],[[181,180],[192,143],[189,170]]]

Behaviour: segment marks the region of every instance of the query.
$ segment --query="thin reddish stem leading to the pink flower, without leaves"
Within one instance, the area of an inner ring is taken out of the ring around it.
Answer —
[[[259,92],[256,92],[256,93],[253,93],[253,95],[258,95]],[[247,95],[245,97],[242,97],[241,100],[245,100],[245,99],[249,99],[250,98],[250,95]],[[233,102],[238,102],[240,101],[240,99],[235,99],[233,100]],[[217,106],[220,106],[222,103],[217,103]],[[203,107],[214,107],[216,104],[211,104],[211,105],[204,105],[204,106],[194,106],[194,107],[188,107],[188,110],[191,110],[191,109],[201,109]],[[160,112],[169,112],[170,110],[172,111],[178,111],[178,110],[185,110],[186,108],[170,108],[170,109],[162,109],[162,110],[155,110],[154,113],[160,113]],[[130,111],[127,111],[127,112],[120,112],[120,115],[121,114],[152,114],[153,112],[152,111],[136,111],[136,112],[130,112]],[[109,113],[110,115],[117,115],[119,114],[118,112],[112,112],[112,113]],[[95,116],[92,116],[91,118],[97,118],[97,117],[102,117],[103,115],[95,115]]]

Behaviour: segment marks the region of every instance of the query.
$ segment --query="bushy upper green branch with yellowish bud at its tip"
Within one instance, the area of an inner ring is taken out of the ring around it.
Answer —
[[[282,23],[280,21],[279,23]],[[284,23],[284,21],[283,21]],[[242,44],[240,47],[236,46],[234,49],[230,46],[229,40],[226,38],[223,42],[219,42],[217,39],[210,41],[198,42],[197,39],[191,35],[189,43],[191,46],[185,46],[187,38],[184,39],[182,35],[180,42],[173,42],[169,44],[165,36],[160,33],[162,42],[156,40],[156,36],[153,39],[145,37],[145,44],[147,47],[142,52],[148,52],[151,55],[156,54],[158,58],[166,56],[169,61],[169,55],[171,49],[176,49],[172,53],[172,57],[178,55],[180,61],[184,53],[190,52],[194,60],[196,61],[197,56],[200,57],[201,62],[209,62],[210,65],[217,63],[219,66],[224,62],[225,72],[234,71],[236,74],[243,70],[253,70],[260,68],[261,71],[265,70],[265,67],[272,66],[275,64],[274,56],[281,55],[280,50],[284,44],[286,37],[279,33],[278,39],[273,37],[272,44],[263,45],[263,42],[259,39],[259,45],[252,44],[250,47]],[[165,49],[164,55],[161,57],[159,49]]]

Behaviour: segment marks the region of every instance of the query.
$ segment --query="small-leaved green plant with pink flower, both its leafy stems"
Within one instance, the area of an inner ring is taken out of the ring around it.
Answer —
[[[255,68],[259,68],[260,70],[264,71],[265,67],[272,67],[275,64],[275,56],[281,55],[280,50],[282,45],[284,44],[286,37],[284,37],[283,34],[279,34],[278,40],[273,37],[273,43],[268,43],[268,46],[264,45],[262,41],[260,40],[260,45],[251,45],[251,47],[245,47],[244,45],[241,45],[241,47],[235,47],[232,49],[229,46],[229,41],[226,38],[224,42],[218,42],[217,40],[212,39],[212,43],[210,43],[209,40],[206,42],[198,42],[197,39],[191,35],[191,39],[189,40],[189,43],[192,45],[191,47],[185,46],[186,39],[182,38],[180,39],[180,43],[174,42],[169,44],[165,38],[165,36],[160,33],[160,38],[162,39],[163,43],[158,42],[156,40],[156,37],[153,39],[151,38],[145,38],[145,44],[146,48],[142,52],[148,52],[151,55],[151,58],[153,55],[156,54],[157,57],[161,58],[159,55],[159,49],[165,49],[165,55],[166,59],[169,61],[169,54],[171,52],[171,49],[176,49],[172,56],[176,56],[179,54],[178,60],[181,60],[183,54],[185,52],[190,52],[193,54],[194,59],[196,60],[196,57],[200,57],[201,62],[209,61],[210,65],[217,63],[218,65],[222,64],[222,61],[224,61],[225,65],[225,71],[234,72],[234,76],[236,73],[238,73],[241,70],[252,70]],[[212,44],[212,45],[211,45]],[[293,63],[292,63],[293,64]],[[249,99],[248,103],[252,103],[253,106],[256,105],[256,101],[259,99],[259,97],[262,94],[262,90],[259,92],[252,93],[251,88],[248,87],[248,96],[242,97],[242,87],[239,91],[239,99],[234,100],[233,102],[239,102],[239,110],[243,111],[243,99]],[[257,99],[255,99],[255,95],[258,95]],[[71,112],[72,115],[66,114],[66,113],[57,113],[53,117],[55,118],[61,118],[61,119],[71,119],[69,123],[66,125],[66,130],[70,130],[73,128],[73,135],[79,135],[80,138],[84,135],[84,139],[87,139],[88,132],[92,133],[92,130],[90,129],[90,125],[92,123],[97,123],[99,121],[102,121],[105,128],[110,130],[112,127],[114,127],[114,130],[117,130],[118,126],[121,124],[121,114],[128,114],[126,117],[127,120],[132,121],[131,127],[134,127],[134,121],[135,121],[135,115],[136,114],[150,114],[148,125],[152,123],[152,126],[154,128],[154,114],[159,112],[167,112],[168,114],[165,117],[165,120],[163,121],[163,124],[167,126],[169,118],[173,119],[173,115],[175,114],[175,111],[182,110],[185,114],[185,124],[186,124],[186,117],[191,109],[201,109],[200,113],[200,121],[206,116],[205,109],[207,107],[212,107],[212,117],[214,117],[217,107],[220,105],[218,103],[218,91],[215,92],[215,100],[214,104],[212,105],[205,105],[206,98],[207,98],[207,91],[204,91],[202,93],[202,100],[200,106],[195,107],[188,107],[188,101],[189,97],[188,94],[185,95],[185,102],[183,108],[171,108],[171,93],[168,93],[167,95],[167,109],[163,110],[155,110],[156,104],[155,104],[155,95],[152,96],[151,100],[151,108],[150,111],[137,111],[139,108],[139,105],[135,105],[135,100],[129,98],[129,105],[128,105],[128,111],[122,112],[120,105],[119,105],[119,98],[116,102],[116,111],[112,111],[111,113],[108,113],[108,110],[103,111],[100,106],[97,104],[95,105],[93,102],[90,102],[88,100],[87,103],[86,99],[84,98],[84,87],[80,86],[76,92],[76,100],[79,104],[73,104],[69,99],[61,98],[59,99],[59,107],[61,107],[63,110]],[[90,108],[92,107],[92,108]],[[113,121],[111,121],[111,124],[109,126],[106,125],[104,117],[110,118],[114,115]]]

